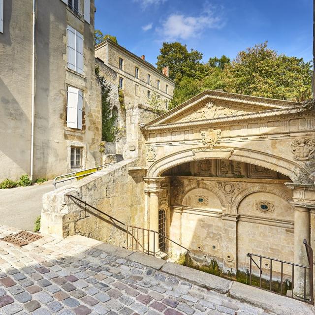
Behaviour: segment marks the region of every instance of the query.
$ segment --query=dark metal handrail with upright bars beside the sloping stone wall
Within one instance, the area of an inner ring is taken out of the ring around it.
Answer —
[[[106,217],[110,218],[111,220],[116,221],[116,222],[122,224],[123,226],[125,226],[125,227],[126,227],[126,232],[127,232],[127,238],[126,238],[126,241],[127,241],[127,249],[129,249],[129,246],[128,246],[128,235],[130,234],[130,230],[131,230],[131,229],[132,229],[132,234],[131,234],[131,237],[132,237],[132,250],[134,250],[134,247],[133,247],[133,240],[134,240],[133,229],[137,229],[137,240],[136,240],[136,241],[137,241],[137,243],[136,243],[136,249],[137,249],[137,251],[139,251],[139,230],[142,230],[142,236],[143,236],[142,239],[143,239],[143,241],[144,241],[144,231],[146,231],[146,232],[149,232],[149,233],[148,233],[148,236],[147,236],[147,240],[148,240],[148,250],[147,250],[147,251],[144,251],[144,243],[143,243],[143,244],[142,244],[142,252],[143,252],[143,253],[147,253],[147,254],[149,255],[149,254],[150,254],[150,250],[149,250],[150,232],[152,232],[152,233],[154,233],[154,234],[153,234],[153,242],[154,242],[154,243],[153,243],[153,256],[154,256],[154,257],[155,257],[155,255],[156,255],[156,251],[155,251],[155,237],[156,237],[156,234],[158,234],[158,235],[160,235],[160,236],[166,238],[166,239],[169,240],[170,242],[172,242],[172,243],[178,245],[179,247],[183,248],[183,249],[186,251],[186,266],[188,266],[189,249],[187,249],[187,248],[184,247],[183,245],[181,245],[181,244],[179,244],[179,243],[177,243],[177,242],[171,240],[171,239],[168,238],[167,236],[165,236],[165,235],[163,235],[163,234],[161,234],[161,233],[159,233],[159,232],[157,232],[157,231],[155,231],[155,230],[150,230],[150,229],[146,229],[146,228],[138,227],[138,226],[134,226],[134,225],[127,225],[127,224],[125,224],[124,222],[115,219],[114,217],[108,215],[107,213],[105,213],[105,212],[103,212],[103,211],[97,209],[96,207],[90,205],[90,204],[87,203],[86,201],[84,201],[84,200],[82,200],[82,199],[80,199],[80,198],[78,198],[78,197],[75,197],[75,196],[73,196],[73,195],[71,195],[71,194],[67,194],[67,196],[69,196],[69,197],[71,197],[71,198],[74,198],[74,199],[76,199],[76,200],[82,202],[82,203],[84,204],[84,207],[85,207],[85,208],[86,208],[86,206],[88,206],[88,207],[90,207],[90,208],[92,208],[92,209],[94,209],[94,210],[100,212],[101,214],[105,215]],[[130,230],[129,230],[129,229],[130,229]],[[140,236],[141,236],[141,235],[140,235]]]

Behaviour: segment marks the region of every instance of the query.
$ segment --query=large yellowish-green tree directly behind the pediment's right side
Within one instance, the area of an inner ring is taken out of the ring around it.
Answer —
[[[226,92],[294,101],[311,98],[311,63],[278,55],[268,43],[238,53],[224,68]]]

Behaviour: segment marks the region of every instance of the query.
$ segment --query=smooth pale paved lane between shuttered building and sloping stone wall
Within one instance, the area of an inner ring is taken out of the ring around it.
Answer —
[[[0,224],[32,231],[40,216],[43,194],[54,189],[53,182],[0,189]]]

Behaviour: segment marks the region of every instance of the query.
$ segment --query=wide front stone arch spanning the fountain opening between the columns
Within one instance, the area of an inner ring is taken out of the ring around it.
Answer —
[[[167,169],[199,159],[231,159],[255,164],[288,176],[293,183],[311,183],[309,172],[295,161],[244,148],[196,148],[173,153],[155,161],[148,168],[148,177],[159,177]]]

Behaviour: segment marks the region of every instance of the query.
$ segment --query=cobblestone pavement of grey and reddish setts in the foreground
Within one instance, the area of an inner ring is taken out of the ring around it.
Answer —
[[[16,231],[0,226],[0,237]],[[70,239],[45,236],[21,248],[0,241],[0,314],[266,314]]]

